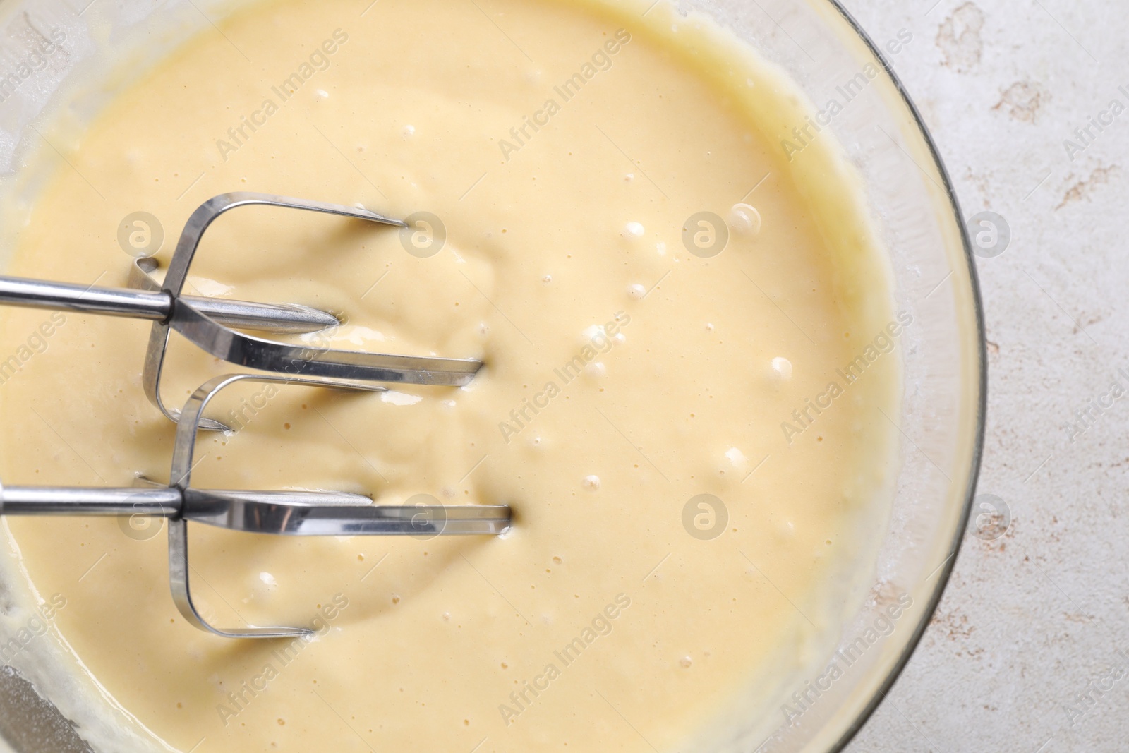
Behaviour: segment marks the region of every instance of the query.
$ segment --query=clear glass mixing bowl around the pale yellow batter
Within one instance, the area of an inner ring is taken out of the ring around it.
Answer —
[[[135,76],[203,28],[209,21],[201,10],[217,18],[242,5],[87,2],[0,0],[0,259],[45,178],[21,160],[38,146],[37,119],[65,112],[82,122],[129,82],[114,64],[123,50]],[[901,413],[889,417],[901,437],[895,497],[869,588],[851,607],[835,650],[812,657],[809,678],[771,690],[779,711],[750,715],[717,743],[719,751],[839,751],[920,640],[968,526],[987,385],[971,246],[933,140],[886,63],[914,43],[911,33],[870,40],[834,0],[702,0],[679,9],[712,17],[796,82],[815,121],[834,133],[857,170],[889,249],[896,310],[913,317],[898,351]],[[44,52],[52,34],[64,41]],[[841,112],[830,112],[832,102]],[[20,588],[10,555],[0,557],[0,612]],[[0,621],[0,651],[15,638],[6,624]],[[0,665],[6,656],[0,653]],[[58,646],[41,641],[17,658],[0,671],[0,751],[89,751],[75,725],[110,733],[131,724],[107,699],[58,672]]]

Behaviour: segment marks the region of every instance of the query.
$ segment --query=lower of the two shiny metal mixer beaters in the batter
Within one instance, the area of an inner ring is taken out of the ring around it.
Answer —
[[[187,524],[283,536],[496,535],[510,526],[505,505],[376,505],[369,497],[335,491],[236,491],[191,485],[196,435],[204,409],[239,382],[310,385],[379,392],[384,387],[278,375],[234,374],[205,383],[180,411],[168,485],[151,489],[98,487],[0,487],[0,515],[143,515],[168,520],[168,579],[177,610],[192,625],[224,638],[290,638],[306,628],[217,628],[192,601]]]

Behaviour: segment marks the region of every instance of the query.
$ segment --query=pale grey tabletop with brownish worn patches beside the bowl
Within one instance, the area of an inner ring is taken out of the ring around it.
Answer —
[[[917,653],[848,750],[1129,751],[1129,6],[843,1],[876,40],[912,33],[892,64],[964,216],[992,211],[1012,231],[978,260],[979,493],[1010,524],[966,537]]]

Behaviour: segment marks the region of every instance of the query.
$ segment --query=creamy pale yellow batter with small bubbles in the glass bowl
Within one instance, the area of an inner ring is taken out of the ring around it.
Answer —
[[[338,218],[217,224],[196,291],[345,312],[339,345],[487,366],[463,389],[233,393],[217,417],[239,430],[201,437],[194,480],[505,502],[514,529],[194,526],[204,613],[320,630],[291,643],[189,627],[163,535],[8,519],[37,593],[65,599],[59,633],[155,739],[201,753],[701,750],[734,720],[776,726],[774,693],[834,643],[873,564],[886,352],[910,324],[832,137],[788,161],[788,82],[665,5],[365,5],[263,2],[172,53],[63,147],[73,169],[8,273],[121,284],[123,217],[158,217],[167,260],[192,209],[233,190],[434,213],[430,257]],[[708,259],[683,243],[701,211],[730,228]],[[147,333],[3,309],[6,483],[167,479]],[[174,405],[231,370],[176,344]],[[684,515],[699,494],[727,510],[715,539],[690,533],[719,525]]]

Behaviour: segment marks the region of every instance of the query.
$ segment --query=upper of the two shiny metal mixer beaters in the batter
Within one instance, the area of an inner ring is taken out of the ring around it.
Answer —
[[[131,316],[154,322],[146,352],[142,384],[146,396],[172,421],[174,409],[165,406],[161,375],[169,333],[176,331],[196,347],[231,364],[294,377],[322,377],[359,382],[463,386],[482,364],[473,359],[369,353],[312,348],[256,338],[231,327],[275,333],[314,332],[336,325],[327,312],[294,304],[259,304],[183,295],[189,269],[208,227],[222,213],[254,204],[339,214],[392,227],[404,222],[365,209],[291,199],[265,193],[225,193],[201,204],[181,233],[163,282],[150,275],[156,264],[138,260],[130,278],[140,290],[0,278],[0,304]],[[208,419],[204,429],[222,430]]]

